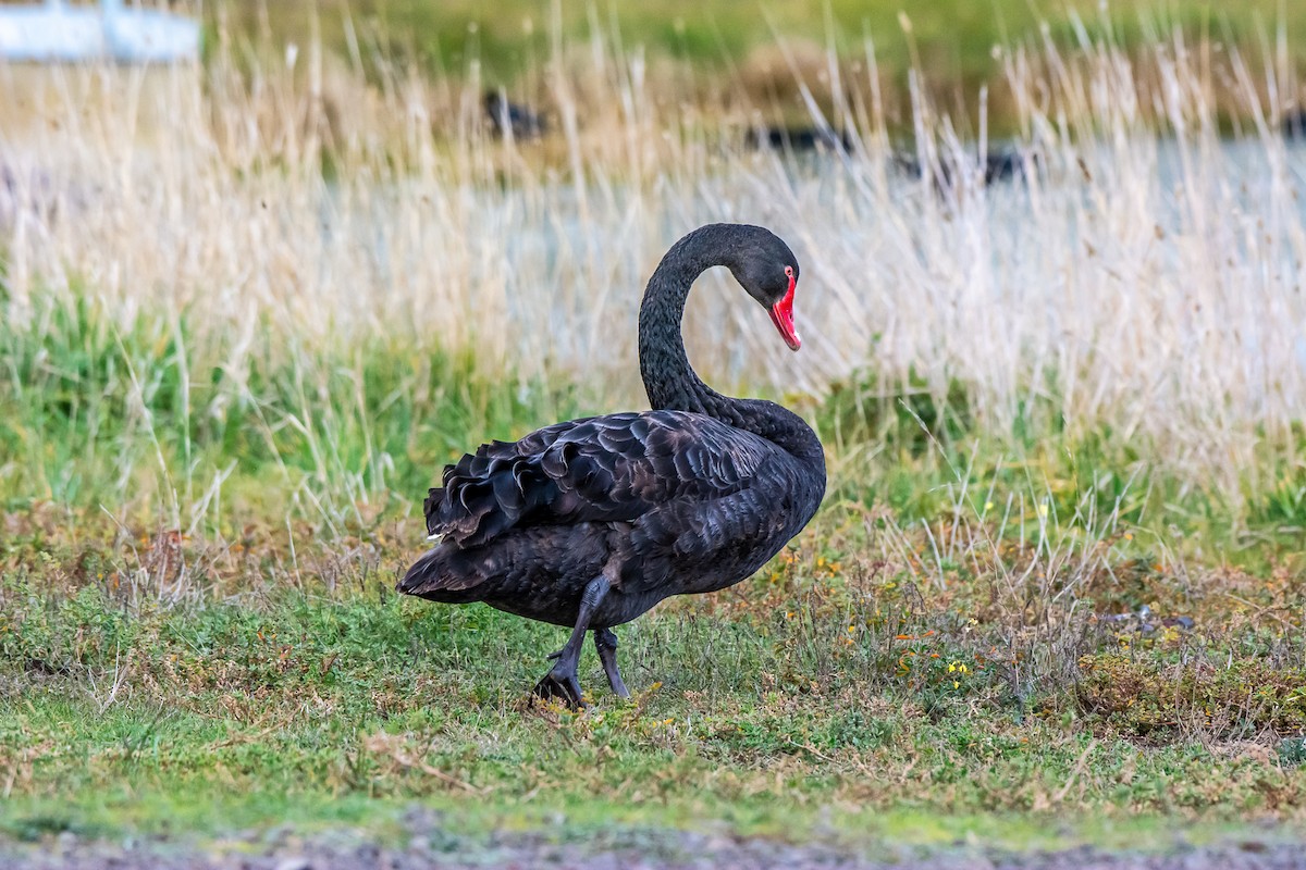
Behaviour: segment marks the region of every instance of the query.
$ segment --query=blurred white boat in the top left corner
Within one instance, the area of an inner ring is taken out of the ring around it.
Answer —
[[[38,63],[178,63],[200,56],[200,22],[138,3],[64,0],[0,5],[0,59]]]

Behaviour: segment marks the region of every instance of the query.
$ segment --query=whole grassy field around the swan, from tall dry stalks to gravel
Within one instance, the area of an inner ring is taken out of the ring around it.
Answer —
[[[1012,52],[1029,177],[985,187],[895,170],[874,80],[833,100],[852,154],[803,162],[606,39],[560,38],[541,142],[492,138],[477,82],[225,51],[0,72],[0,831],[1303,820],[1290,74]],[[973,166],[910,95],[916,154]],[[622,631],[633,702],[585,659],[592,710],[530,707],[558,630],[392,592],[421,496],[637,407],[639,290],[722,219],[793,244],[804,350],[708,277],[691,357],[803,412],[831,492],[757,577]]]

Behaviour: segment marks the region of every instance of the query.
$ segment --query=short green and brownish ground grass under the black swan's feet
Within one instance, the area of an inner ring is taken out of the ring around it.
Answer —
[[[855,583],[853,570],[811,554],[819,548],[806,535],[741,596],[675,603],[626,629],[636,700],[602,691],[586,660],[596,703],[573,715],[524,703],[560,631],[394,596],[392,569],[411,548],[334,591],[313,575],[302,588],[278,584],[285,554],[270,548],[235,557],[257,563],[246,595],[162,607],[129,590],[121,570],[91,574],[95,545],[10,537],[0,827],[221,833],[269,818],[362,819],[372,801],[397,811],[414,800],[454,807],[473,831],[562,811],[580,827],[710,818],[791,839],[820,807],[836,807],[850,837],[882,813],[905,828],[871,830],[909,840],[951,837],[989,814],[1027,818],[1006,843],[1046,843],[1030,828],[1067,811],[1299,818],[1306,779],[1266,741],[1301,733],[1299,638],[1230,630],[1212,623],[1211,603],[1195,603],[1198,630],[1139,635],[1124,652],[1128,633],[1102,633],[1083,647],[1109,651],[1084,663],[1084,685],[1043,681],[1021,697],[999,661],[1013,625],[985,613],[983,580],[946,596],[908,592],[901,574]],[[1194,656],[1199,672],[1213,667],[1234,643],[1254,663],[1297,664],[1226,672],[1178,704],[1134,687]],[[1262,683],[1284,694],[1242,708]],[[1122,708],[1135,693],[1152,704],[1147,717],[1169,704],[1183,721],[1148,719],[1141,730],[1141,719],[1076,702],[1104,690]]]

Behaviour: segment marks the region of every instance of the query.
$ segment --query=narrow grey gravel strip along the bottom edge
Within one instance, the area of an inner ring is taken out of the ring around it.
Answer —
[[[424,814],[423,814],[424,815]],[[461,837],[436,819],[413,819],[402,847],[377,845],[354,832],[299,836],[259,832],[205,841],[81,840],[61,833],[37,844],[0,840],[0,867],[31,870],[1306,870],[1302,843],[1249,837],[1213,847],[1177,845],[1168,854],[1066,852],[1010,854],[982,849],[917,854],[852,852],[683,831],[623,830],[589,840],[539,833]]]

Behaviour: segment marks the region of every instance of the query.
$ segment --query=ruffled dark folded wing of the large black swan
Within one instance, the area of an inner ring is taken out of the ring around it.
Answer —
[[[470,548],[515,527],[636,520],[739,492],[776,450],[684,411],[559,423],[448,466],[424,503],[427,531]]]

